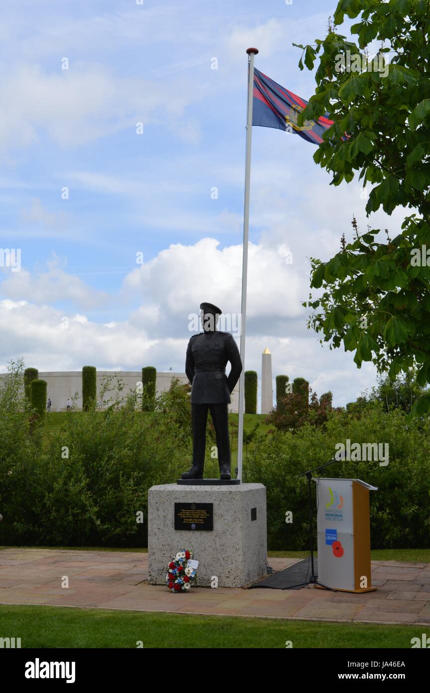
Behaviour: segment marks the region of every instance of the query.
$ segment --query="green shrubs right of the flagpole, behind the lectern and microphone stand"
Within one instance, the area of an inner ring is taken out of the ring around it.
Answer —
[[[428,545],[429,421],[411,421],[400,410],[388,413],[381,407],[367,405],[360,418],[344,410],[333,410],[322,428],[304,423],[294,435],[277,431],[272,437],[260,437],[250,449],[243,478],[267,488],[270,548],[308,547],[307,484],[299,474],[328,462],[335,454],[335,445],[346,439],[360,444],[388,443],[389,464],[335,462],[314,476],[358,478],[378,487],[378,491],[370,493],[373,548]],[[315,512],[315,491],[312,500]],[[288,510],[293,514],[290,525],[285,522]]]

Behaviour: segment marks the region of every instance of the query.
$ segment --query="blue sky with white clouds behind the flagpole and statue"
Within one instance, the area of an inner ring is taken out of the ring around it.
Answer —
[[[308,98],[315,81],[292,42],[324,37],[334,9],[331,0],[3,8],[0,247],[21,249],[21,271],[0,267],[1,371],[18,356],[41,371],[183,371],[200,301],[239,312],[245,49],[259,48],[256,67]],[[335,254],[353,213],[365,228],[366,200],[358,181],[329,186],[312,144],[268,128],[252,137],[245,369],[260,372],[268,347],[274,376],[306,377],[345,404],[373,385],[373,368],[322,349],[301,301],[308,258]],[[371,222],[393,235],[401,219]]]

